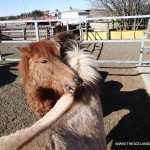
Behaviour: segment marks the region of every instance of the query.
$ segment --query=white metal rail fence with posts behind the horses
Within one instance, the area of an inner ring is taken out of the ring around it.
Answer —
[[[0,40],[0,43],[29,43],[29,42],[35,42],[40,40],[39,36],[39,23],[40,22],[49,22],[51,25],[52,22],[66,22],[67,24],[67,30],[69,30],[69,22],[72,20],[76,20],[79,22],[79,30],[80,30],[80,39],[83,40],[83,36],[88,34],[88,23],[89,22],[95,22],[95,21],[116,21],[116,20],[126,20],[126,19],[150,19],[150,15],[143,15],[143,16],[116,16],[116,17],[100,17],[100,18],[80,18],[80,19],[60,19],[60,20],[23,20],[23,21],[0,21],[1,24],[24,24],[24,23],[33,23],[34,24],[34,32],[35,32],[35,40]],[[82,23],[84,22],[84,35],[82,32]],[[15,32],[15,31],[14,31]],[[141,42],[141,48],[139,49],[139,61],[130,61],[130,60],[96,60],[98,63],[135,63],[135,64],[147,64],[150,63],[150,61],[144,61],[143,58],[143,52],[145,50],[144,43],[150,42],[150,39],[145,38],[145,34],[150,34],[149,32],[144,32],[143,37],[141,39],[122,39],[122,40],[84,40],[83,43],[98,43],[98,42]],[[148,49],[150,47],[146,47]],[[0,61],[19,61],[20,59],[10,59],[2,58],[2,54],[0,51]]]

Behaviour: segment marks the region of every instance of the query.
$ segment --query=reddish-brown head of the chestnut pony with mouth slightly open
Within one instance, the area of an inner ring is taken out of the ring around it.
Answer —
[[[39,41],[18,49],[23,53],[20,69],[25,70],[25,84],[69,93],[81,84],[78,75],[63,63],[58,43]]]

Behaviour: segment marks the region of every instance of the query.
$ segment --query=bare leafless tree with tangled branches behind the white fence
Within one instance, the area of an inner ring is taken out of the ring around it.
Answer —
[[[105,9],[111,16],[150,14],[150,0],[88,0],[95,9]],[[145,19],[118,20],[123,29],[138,29]]]

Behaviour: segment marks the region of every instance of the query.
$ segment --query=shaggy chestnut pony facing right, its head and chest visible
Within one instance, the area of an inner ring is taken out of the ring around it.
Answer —
[[[64,92],[73,92],[81,80],[63,63],[60,46],[54,41],[39,41],[19,50],[23,53],[20,72],[27,101],[36,116],[41,118]]]

